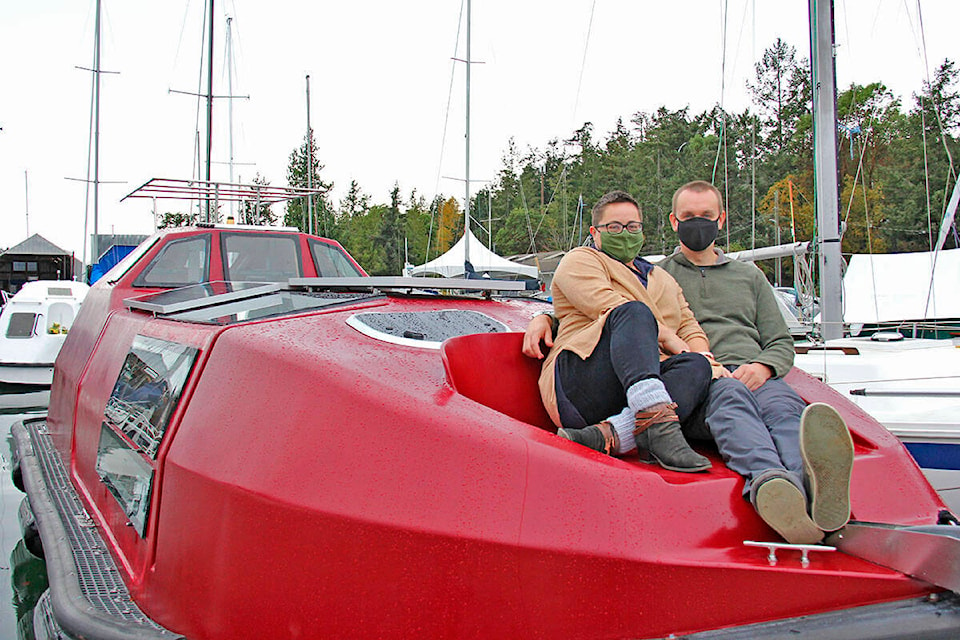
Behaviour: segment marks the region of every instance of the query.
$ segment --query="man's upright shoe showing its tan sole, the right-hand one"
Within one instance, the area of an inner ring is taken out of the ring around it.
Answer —
[[[830,405],[814,403],[800,417],[800,455],[810,489],[810,517],[824,531],[850,519],[853,440]]]

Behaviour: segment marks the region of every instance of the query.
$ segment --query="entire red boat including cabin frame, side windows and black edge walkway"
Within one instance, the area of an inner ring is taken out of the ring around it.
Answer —
[[[911,632],[960,628],[952,596],[928,598],[937,572],[779,545],[710,445],[713,469],[690,476],[556,437],[517,333],[545,305],[522,285],[305,268],[136,296],[175,239],[94,287],[49,416],[15,428],[69,633],[855,635],[896,631],[905,611]],[[809,376],[788,381],[850,425],[855,519],[948,537],[893,436]],[[136,620],[71,582],[90,569],[83,537]]]

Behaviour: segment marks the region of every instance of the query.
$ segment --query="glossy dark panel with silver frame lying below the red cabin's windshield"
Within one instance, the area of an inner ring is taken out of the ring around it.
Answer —
[[[236,324],[370,298],[370,293],[292,291],[279,283],[211,282],[129,298],[139,309],[168,320]]]

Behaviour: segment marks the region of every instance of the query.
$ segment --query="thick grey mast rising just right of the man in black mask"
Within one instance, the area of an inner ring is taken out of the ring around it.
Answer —
[[[820,310],[824,340],[843,335],[840,194],[837,182],[837,87],[833,0],[809,0],[813,74],[813,164],[820,236]]]

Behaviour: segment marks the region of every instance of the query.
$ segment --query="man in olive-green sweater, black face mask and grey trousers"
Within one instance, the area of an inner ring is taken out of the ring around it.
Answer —
[[[716,442],[727,466],[744,477],[744,497],[784,539],[819,542],[850,517],[853,443],[832,407],[805,407],[780,378],[793,366],[793,340],[760,270],[715,246],[725,220],[713,185],[691,182],[674,194],[670,222],[680,247],[661,265],[729,371],[710,385],[687,433]],[[534,318],[524,353],[538,357],[541,339],[551,345],[551,327]]]

